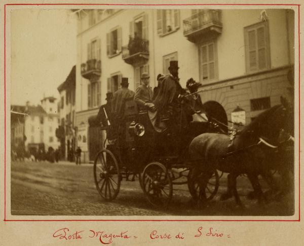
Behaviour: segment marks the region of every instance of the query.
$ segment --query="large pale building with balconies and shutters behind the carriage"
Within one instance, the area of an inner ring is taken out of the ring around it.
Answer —
[[[88,119],[97,114],[106,92],[120,88],[122,77],[135,90],[143,72],[154,87],[158,74],[168,74],[170,60],[178,60],[181,85],[189,78],[200,82],[202,101],[222,108],[229,121],[236,108],[245,111],[248,124],[280,103],[293,85],[294,12],[82,10],[77,51],[75,124],[89,153],[92,138],[102,136],[90,129]]]

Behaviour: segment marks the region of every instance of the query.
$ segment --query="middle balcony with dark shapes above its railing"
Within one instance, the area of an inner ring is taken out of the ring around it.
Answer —
[[[130,39],[127,46],[122,47],[123,59],[126,63],[136,65],[149,59],[149,42],[143,39]]]

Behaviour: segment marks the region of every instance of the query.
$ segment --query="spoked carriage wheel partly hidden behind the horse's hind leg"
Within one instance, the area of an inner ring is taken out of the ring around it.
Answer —
[[[198,171],[196,168],[191,169],[188,175],[188,189],[194,200],[201,199],[210,201],[218,190],[219,175],[216,169],[210,171],[208,176],[203,174],[204,173]],[[201,182],[204,178],[206,179],[206,177],[209,179],[205,185],[205,189],[201,191],[199,182]]]

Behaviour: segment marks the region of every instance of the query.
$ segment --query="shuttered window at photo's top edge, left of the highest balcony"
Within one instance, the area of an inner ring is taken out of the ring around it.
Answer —
[[[157,32],[160,36],[177,30],[180,26],[179,10],[157,10]]]

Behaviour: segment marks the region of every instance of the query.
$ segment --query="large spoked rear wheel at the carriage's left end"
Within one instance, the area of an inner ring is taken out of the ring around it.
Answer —
[[[120,189],[120,170],[109,150],[100,151],[94,161],[94,180],[100,196],[107,201],[117,197]]]

